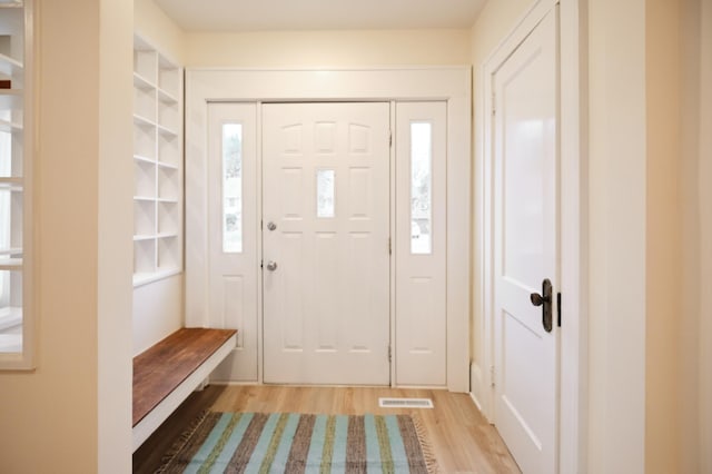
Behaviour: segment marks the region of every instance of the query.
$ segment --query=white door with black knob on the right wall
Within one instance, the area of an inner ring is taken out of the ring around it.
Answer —
[[[495,91],[495,425],[523,472],[557,472],[557,9],[497,70]]]

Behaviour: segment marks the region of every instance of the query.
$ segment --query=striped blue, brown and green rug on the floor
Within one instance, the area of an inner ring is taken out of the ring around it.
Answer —
[[[159,473],[434,473],[409,415],[206,412]]]

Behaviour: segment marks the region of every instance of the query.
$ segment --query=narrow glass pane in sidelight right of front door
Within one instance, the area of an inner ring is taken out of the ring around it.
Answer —
[[[411,253],[431,254],[433,125],[411,124]]]

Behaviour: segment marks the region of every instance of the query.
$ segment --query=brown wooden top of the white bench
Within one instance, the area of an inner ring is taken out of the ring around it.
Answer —
[[[134,357],[134,426],[235,333],[181,328]]]

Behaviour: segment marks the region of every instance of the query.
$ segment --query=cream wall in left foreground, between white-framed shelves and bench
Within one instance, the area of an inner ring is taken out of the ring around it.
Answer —
[[[108,175],[119,192],[127,185],[129,168],[115,160],[131,139],[131,90],[121,66],[127,45],[100,24],[126,28],[131,6],[106,2],[38,1],[37,369],[0,373],[0,460],[13,474],[108,472],[108,463],[130,470],[130,445],[122,450],[130,432],[130,280],[122,277],[130,274],[118,261],[126,255],[105,254],[130,227],[125,217],[100,217],[129,210],[100,186]],[[110,79],[113,60],[120,71]]]

